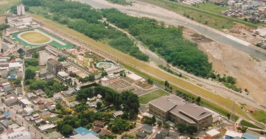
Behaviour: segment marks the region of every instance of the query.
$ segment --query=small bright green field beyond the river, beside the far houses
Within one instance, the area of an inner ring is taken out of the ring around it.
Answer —
[[[213,3],[201,3],[197,8],[217,14],[221,14],[222,11],[226,11],[229,9],[228,7],[219,6]]]

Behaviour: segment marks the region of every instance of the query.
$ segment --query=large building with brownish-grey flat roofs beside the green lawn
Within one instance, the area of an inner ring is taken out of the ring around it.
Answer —
[[[149,102],[149,112],[163,120],[196,125],[198,131],[210,126],[212,113],[196,104],[186,104],[185,100],[171,94]]]

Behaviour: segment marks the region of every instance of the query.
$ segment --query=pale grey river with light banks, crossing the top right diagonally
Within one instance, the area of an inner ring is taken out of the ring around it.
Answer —
[[[258,50],[259,48],[256,48],[245,41],[237,39],[231,35],[225,34],[218,30],[210,29],[209,27],[200,25],[199,23],[190,21],[189,19],[185,19],[184,17],[180,17],[180,15],[177,15],[176,13],[174,13],[175,16],[172,16],[172,15],[166,16],[164,13],[158,14],[158,12],[156,12],[155,10],[150,10],[150,11],[143,10],[146,7],[144,7],[143,9],[137,9],[137,8],[133,8],[130,6],[126,6],[126,7],[120,6],[120,5],[117,6],[114,4],[107,3],[107,2],[103,2],[102,0],[78,0],[78,1],[83,2],[83,3],[88,3],[94,8],[118,8],[121,12],[127,13],[129,15],[146,16],[149,18],[154,18],[156,20],[165,21],[166,23],[172,23],[173,25],[180,24],[180,25],[183,25],[189,28],[193,28],[200,34],[214,41],[217,41],[219,43],[222,43],[228,46],[233,46],[236,49],[239,49],[245,53],[248,53],[252,56],[255,56],[257,58],[260,58],[266,61],[266,53],[264,52],[265,50],[260,51]],[[151,7],[154,7],[154,6],[151,6]],[[173,12],[171,14],[173,14]]]

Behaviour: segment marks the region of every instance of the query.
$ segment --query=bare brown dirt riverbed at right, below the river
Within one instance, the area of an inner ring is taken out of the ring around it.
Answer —
[[[195,41],[197,32],[188,28],[184,32],[185,38]],[[247,89],[257,102],[266,106],[266,61],[217,42],[195,42],[208,55],[215,71],[235,77],[238,87]]]

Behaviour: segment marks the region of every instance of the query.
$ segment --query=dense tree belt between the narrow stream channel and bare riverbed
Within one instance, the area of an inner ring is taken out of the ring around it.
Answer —
[[[103,9],[102,14],[108,22],[129,30],[136,39],[172,65],[202,77],[211,73],[212,65],[207,56],[197,44],[182,37],[181,27],[165,27],[156,20],[128,16],[116,9]]]

